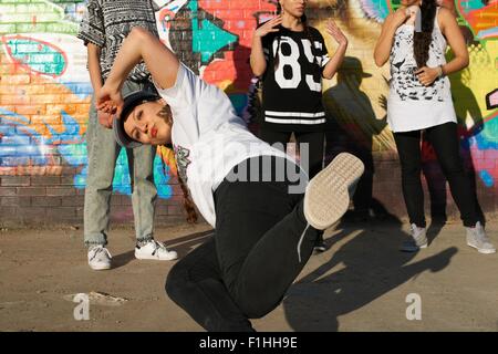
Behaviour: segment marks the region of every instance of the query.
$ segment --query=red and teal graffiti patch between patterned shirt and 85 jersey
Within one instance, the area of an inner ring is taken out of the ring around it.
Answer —
[[[156,19],[163,42],[204,80],[224,88],[242,115],[252,80],[248,62],[252,31],[274,11],[274,3],[162,0],[160,4]]]

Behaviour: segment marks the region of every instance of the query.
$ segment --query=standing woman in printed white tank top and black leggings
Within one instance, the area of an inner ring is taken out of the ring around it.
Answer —
[[[404,251],[427,247],[424,194],[421,183],[421,133],[434,146],[452,195],[467,229],[467,244],[494,253],[477,217],[477,198],[465,173],[457,136],[448,74],[468,65],[468,52],[454,14],[435,0],[402,0],[382,28],[375,64],[391,65],[387,122],[394,134],[402,166],[403,196],[413,239]],[[454,59],[446,62],[447,43]]]

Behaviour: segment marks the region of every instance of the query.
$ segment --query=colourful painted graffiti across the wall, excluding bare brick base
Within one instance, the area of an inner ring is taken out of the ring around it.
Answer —
[[[448,0],[450,1],[450,0]],[[187,65],[224,88],[237,112],[250,119],[255,108],[249,67],[252,31],[276,10],[274,0],[155,0],[158,33]],[[324,83],[328,112],[341,127],[374,152],[394,152],[385,124],[388,69],[377,69],[372,52],[386,15],[398,0],[310,0],[309,19],[324,33],[334,18],[350,40],[341,72]],[[470,65],[452,75],[463,149],[480,180],[496,186],[498,167],[498,1],[455,0],[458,23],[471,38]],[[85,184],[87,110],[91,85],[86,52],[75,38],[84,1],[0,0],[0,175],[58,175],[77,169],[74,186]],[[324,35],[330,52],[334,41]],[[448,54],[449,55],[449,54]],[[249,94],[248,94],[249,92]],[[495,97],[495,98],[494,98]],[[492,98],[492,100],[491,100]],[[169,164],[156,159],[159,194],[172,195]],[[165,153],[167,155],[167,153]],[[426,159],[434,158],[430,153]],[[127,162],[120,156],[115,189],[129,194]]]

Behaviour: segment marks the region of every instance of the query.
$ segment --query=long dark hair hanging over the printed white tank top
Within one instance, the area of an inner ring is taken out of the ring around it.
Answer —
[[[422,1],[422,32],[415,31],[413,34],[413,53],[418,67],[425,66],[427,64],[428,51],[430,42],[433,41],[434,19],[436,18],[436,0]]]

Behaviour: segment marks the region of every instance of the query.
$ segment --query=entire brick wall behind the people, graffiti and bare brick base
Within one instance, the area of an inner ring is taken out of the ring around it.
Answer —
[[[324,84],[329,114],[328,158],[352,149],[369,166],[364,195],[390,212],[400,199],[395,146],[385,123],[387,66],[375,67],[373,48],[398,0],[310,0],[308,15],[324,33],[333,18],[350,40],[338,75]],[[276,10],[271,0],[155,0],[162,41],[207,82],[224,88],[237,112],[257,121],[255,77],[249,67],[255,27]],[[455,0],[455,13],[470,65],[450,77],[460,123],[461,152],[475,173],[483,209],[495,212],[498,167],[498,1]],[[86,179],[85,131],[92,87],[86,49],[76,39],[84,1],[0,0],[0,222],[82,220]],[[328,49],[334,42],[324,35]],[[448,52],[448,56],[450,53]],[[495,106],[492,105],[495,102]],[[257,123],[257,122],[256,122]],[[159,152],[160,153],[160,152]],[[175,170],[156,158],[159,217],[181,216]],[[434,153],[424,144],[425,178],[432,205],[446,208],[446,185]],[[375,168],[374,168],[375,167]],[[129,219],[129,176],[124,152],[115,169],[115,216]],[[370,208],[370,201],[355,207]],[[397,210],[397,211],[396,211]],[[167,218],[166,218],[167,219]]]

